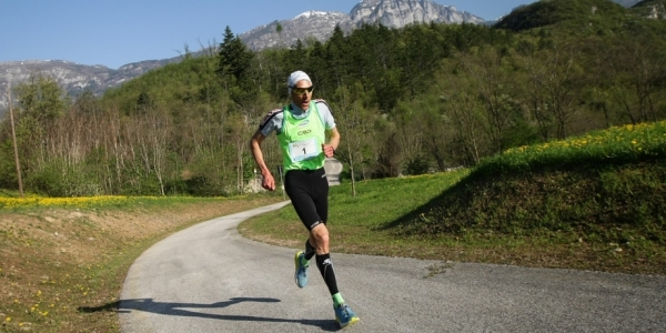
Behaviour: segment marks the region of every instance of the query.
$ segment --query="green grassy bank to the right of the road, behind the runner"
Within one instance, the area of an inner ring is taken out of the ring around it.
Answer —
[[[333,252],[666,274],[666,122],[521,147],[452,173],[331,189]],[[302,248],[291,206],[242,234]]]

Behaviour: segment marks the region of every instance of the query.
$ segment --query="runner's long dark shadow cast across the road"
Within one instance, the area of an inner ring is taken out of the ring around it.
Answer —
[[[211,304],[196,304],[196,303],[169,303],[169,302],[154,302],[152,299],[138,299],[138,300],[120,300],[113,303],[108,303],[101,306],[80,306],[78,310],[84,313],[111,311],[115,313],[130,313],[132,310],[152,312],[164,315],[180,315],[180,316],[192,316],[192,317],[204,317],[204,319],[216,319],[224,321],[244,321],[244,322],[272,322],[272,323],[295,323],[302,325],[310,325],[320,327],[322,331],[337,331],[337,324],[333,320],[291,320],[291,319],[275,319],[275,317],[263,317],[263,316],[251,316],[251,315],[224,315],[224,314],[212,314],[201,313],[196,311],[185,309],[222,309],[233,304],[242,302],[259,302],[259,303],[279,303],[278,299],[268,297],[233,297],[226,302],[216,302]]]

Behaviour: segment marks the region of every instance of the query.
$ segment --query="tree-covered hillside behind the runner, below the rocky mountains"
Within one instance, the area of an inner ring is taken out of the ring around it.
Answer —
[[[666,22],[640,6],[538,1],[496,27],[364,26],[261,52],[228,28],[205,57],[73,102],[36,77],[13,90],[21,174],[50,195],[243,192],[254,176],[249,139],[287,102],[294,70],[333,109],[347,178],[475,165],[513,147],[665,119]],[[0,188],[16,189],[2,127]],[[265,154],[280,164],[274,140]]]

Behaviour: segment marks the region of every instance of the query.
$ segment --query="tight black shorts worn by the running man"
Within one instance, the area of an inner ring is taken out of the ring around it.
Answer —
[[[329,180],[324,168],[290,170],[284,175],[284,191],[307,230],[329,219]]]

